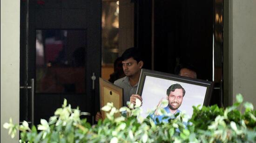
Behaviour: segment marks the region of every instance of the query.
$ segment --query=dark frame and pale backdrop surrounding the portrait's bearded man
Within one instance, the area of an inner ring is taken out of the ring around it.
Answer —
[[[167,89],[174,84],[181,85],[185,90],[182,103],[178,107],[179,111],[186,112],[192,117],[192,106],[209,105],[213,89],[212,81],[142,69],[136,92],[142,97],[141,116],[146,118],[149,111],[156,109],[162,98],[167,99]]]

